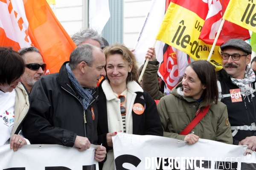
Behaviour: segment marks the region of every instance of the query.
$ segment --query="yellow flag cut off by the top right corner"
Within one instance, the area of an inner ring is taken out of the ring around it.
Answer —
[[[230,0],[223,19],[256,32],[255,5],[253,0]]]

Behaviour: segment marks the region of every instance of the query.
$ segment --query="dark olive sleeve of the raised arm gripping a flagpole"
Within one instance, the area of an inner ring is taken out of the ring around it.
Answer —
[[[142,77],[142,88],[154,100],[160,100],[161,97],[166,96],[161,91],[159,91],[158,81],[157,81],[157,71],[159,68],[159,62],[157,60],[149,61],[145,69],[145,73]]]

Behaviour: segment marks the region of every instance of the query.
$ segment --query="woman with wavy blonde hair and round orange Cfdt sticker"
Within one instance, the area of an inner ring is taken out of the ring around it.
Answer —
[[[108,159],[101,170],[114,170],[112,136],[117,132],[163,136],[157,107],[140,87],[134,54],[121,44],[104,48],[106,77],[99,85],[98,143],[106,147]]]

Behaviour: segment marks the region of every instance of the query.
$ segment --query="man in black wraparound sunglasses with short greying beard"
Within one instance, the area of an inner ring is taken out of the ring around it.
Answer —
[[[46,64],[44,63],[40,51],[35,47],[22,48],[18,52],[26,62],[26,68],[22,76],[22,82],[30,93],[31,88],[35,82],[40,77],[44,76]]]

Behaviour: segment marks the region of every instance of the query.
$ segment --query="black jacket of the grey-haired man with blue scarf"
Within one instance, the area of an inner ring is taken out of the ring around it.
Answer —
[[[97,144],[98,90],[93,91],[93,99],[85,111],[87,123],[84,123],[84,109],[67,77],[66,63],[59,73],[38,79],[31,90],[31,108],[23,122],[23,135],[32,144],[73,147],[76,135],[86,136],[91,144]]]

